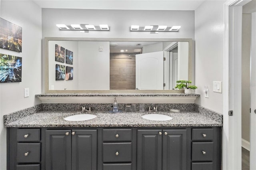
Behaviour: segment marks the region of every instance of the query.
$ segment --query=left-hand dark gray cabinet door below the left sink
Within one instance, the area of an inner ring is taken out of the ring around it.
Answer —
[[[46,130],[46,170],[71,170],[71,130]]]

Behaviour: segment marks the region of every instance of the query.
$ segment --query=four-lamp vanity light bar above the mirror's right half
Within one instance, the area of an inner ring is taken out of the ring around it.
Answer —
[[[158,32],[178,32],[181,26],[158,26],[158,25],[151,25],[151,26],[135,26],[132,25],[130,27],[130,31],[147,31],[150,33],[158,33]]]

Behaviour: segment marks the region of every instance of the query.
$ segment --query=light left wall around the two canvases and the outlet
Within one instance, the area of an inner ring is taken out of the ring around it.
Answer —
[[[41,93],[41,8],[32,1],[1,0],[1,18],[22,27],[22,53],[0,49],[0,53],[22,57],[22,82],[0,83],[0,169],[6,170],[6,128],[3,115],[40,103]],[[24,98],[24,88],[30,96]]]

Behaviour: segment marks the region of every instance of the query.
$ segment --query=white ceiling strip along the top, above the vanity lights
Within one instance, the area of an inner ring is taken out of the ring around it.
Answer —
[[[41,8],[195,10],[204,0],[34,0]]]

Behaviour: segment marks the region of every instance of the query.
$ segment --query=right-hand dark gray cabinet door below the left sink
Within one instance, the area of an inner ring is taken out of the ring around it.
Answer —
[[[72,130],[72,170],[96,170],[97,130]]]

